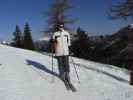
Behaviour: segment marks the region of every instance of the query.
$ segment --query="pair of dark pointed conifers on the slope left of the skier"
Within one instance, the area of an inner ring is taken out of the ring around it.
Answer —
[[[21,29],[16,25],[16,29],[13,32],[13,39],[11,46],[29,50],[35,50],[35,45],[32,39],[31,30],[29,24],[26,23],[24,27],[24,32],[21,32]]]

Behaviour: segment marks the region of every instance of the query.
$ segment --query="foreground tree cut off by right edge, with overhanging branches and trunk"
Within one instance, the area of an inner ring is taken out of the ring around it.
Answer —
[[[123,0],[120,3],[114,5],[110,9],[110,16],[113,19],[133,18],[133,0]],[[128,37],[129,41],[127,45],[127,48],[130,48],[130,50],[127,51],[128,53],[127,65],[130,68],[133,68],[133,57],[131,57],[133,53],[133,42],[131,41],[132,38],[133,38],[132,36]],[[129,46],[130,44],[131,44],[131,47]],[[130,73],[130,84],[133,85],[133,69],[131,69],[131,73]]]

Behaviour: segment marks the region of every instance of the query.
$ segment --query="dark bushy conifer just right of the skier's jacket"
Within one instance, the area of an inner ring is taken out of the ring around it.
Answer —
[[[75,56],[88,59],[90,52],[89,37],[86,31],[77,29],[76,39],[72,42],[71,51]]]

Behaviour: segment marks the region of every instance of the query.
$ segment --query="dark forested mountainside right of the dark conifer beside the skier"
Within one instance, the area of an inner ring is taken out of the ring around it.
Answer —
[[[89,38],[92,47],[89,46],[88,59],[131,69],[128,63],[130,58],[133,58],[133,24],[121,28],[112,35]]]

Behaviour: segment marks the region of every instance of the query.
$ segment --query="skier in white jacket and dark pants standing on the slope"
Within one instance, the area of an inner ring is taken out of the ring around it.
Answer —
[[[59,25],[59,30],[52,36],[52,47],[58,60],[60,77],[70,82],[69,46],[70,34],[64,30],[64,25]]]

